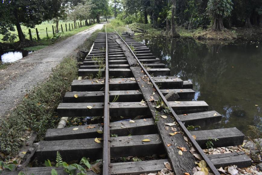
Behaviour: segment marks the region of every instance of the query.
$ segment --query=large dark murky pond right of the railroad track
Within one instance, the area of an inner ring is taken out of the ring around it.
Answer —
[[[192,81],[193,100],[204,100],[209,110],[222,114],[221,124],[208,129],[236,127],[249,135],[248,125],[261,122],[261,43],[205,44],[165,36],[138,36],[136,40],[147,44],[171,69],[171,76]]]

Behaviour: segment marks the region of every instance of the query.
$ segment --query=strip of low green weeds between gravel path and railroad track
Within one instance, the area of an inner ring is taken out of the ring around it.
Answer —
[[[59,121],[55,110],[71,82],[77,78],[77,62],[65,58],[46,82],[38,84],[5,119],[0,120],[0,146],[3,159],[10,158],[19,151],[26,140],[26,133],[38,132],[41,139],[46,129],[53,128]],[[56,116],[56,118],[54,117]],[[1,153],[0,152],[0,153]]]

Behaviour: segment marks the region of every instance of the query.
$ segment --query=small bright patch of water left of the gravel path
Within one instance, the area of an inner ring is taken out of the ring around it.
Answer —
[[[32,52],[33,51],[12,50],[12,51],[0,52],[0,55],[3,63],[10,63],[22,59],[23,57],[27,56],[29,53]]]

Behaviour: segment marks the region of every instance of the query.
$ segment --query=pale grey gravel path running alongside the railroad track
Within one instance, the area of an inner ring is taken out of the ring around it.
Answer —
[[[0,70],[0,118],[8,114],[22,100],[26,90],[47,79],[53,67],[74,52],[102,24],[96,24],[66,40],[55,43],[24,57]]]

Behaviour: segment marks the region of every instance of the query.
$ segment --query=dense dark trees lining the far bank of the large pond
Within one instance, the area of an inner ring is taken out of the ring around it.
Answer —
[[[262,20],[262,0],[122,0],[123,13],[119,17],[130,24],[147,24],[148,17],[154,27],[173,25],[207,28],[214,31],[225,27],[251,27]],[[174,32],[174,31],[172,31]]]

